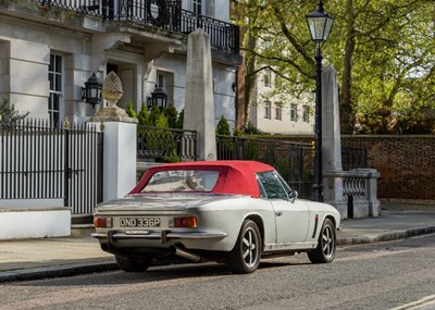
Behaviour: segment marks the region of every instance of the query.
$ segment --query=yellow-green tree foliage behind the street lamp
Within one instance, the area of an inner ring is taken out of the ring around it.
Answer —
[[[425,107],[435,108],[433,0],[332,0],[324,5],[335,16],[322,54],[324,64],[338,72],[341,132],[351,133],[366,111],[388,113],[383,120],[388,125],[381,126],[386,132],[398,132],[399,124],[401,131],[414,127],[406,124],[411,119],[425,117],[428,124]],[[304,15],[315,3],[232,0],[232,8],[241,26],[248,78],[269,69],[282,80],[278,91],[311,94],[314,44]]]

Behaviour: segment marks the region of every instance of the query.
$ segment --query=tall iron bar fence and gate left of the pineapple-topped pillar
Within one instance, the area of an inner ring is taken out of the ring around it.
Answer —
[[[0,199],[63,199],[73,214],[102,201],[102,134],[86,123],[0,123]]]

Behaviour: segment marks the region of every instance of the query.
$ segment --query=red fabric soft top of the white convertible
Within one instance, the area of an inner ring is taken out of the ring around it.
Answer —
[[[254,198],[260,197],[256,173],[272,171],[273,166],[241,160],[192,161],[167,163],[147,170],[139,183],[129,194],[138,194],[156,172],[170,170],[213,170],[220,172],[220,178],[213,188],[216,194],[240,194]]]

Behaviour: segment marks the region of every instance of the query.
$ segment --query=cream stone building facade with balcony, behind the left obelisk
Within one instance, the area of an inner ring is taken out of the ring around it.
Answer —
[[[119,106],[141,103],[156,87],[184,107],[187,35],[210,34],[216,119],[235,122],[232,84],[241,59],[228,0],[0,1],[0,98],[29,117],[84,121],[102,104],[83,98],[85,82],[114,71]]]

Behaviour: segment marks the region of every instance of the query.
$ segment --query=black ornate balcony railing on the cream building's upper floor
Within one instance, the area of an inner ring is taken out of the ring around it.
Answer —
[[[169,32],[189,34],[202,28],[212,48],[239,52],[239,27],[182,9],[182,1],[163,0],[32,0],[48,8],[62,8],[103,21],[132,21]]]

